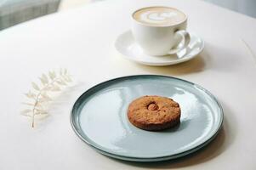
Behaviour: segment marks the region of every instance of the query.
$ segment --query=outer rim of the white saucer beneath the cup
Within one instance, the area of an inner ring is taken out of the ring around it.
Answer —
[[[174,60],[174,61],[168,61],[168,62],[159,62],[159,63],[152,63],[152,62],[149,62],[149,61],[142,61],[142,60],[137,60],[137,59],[133,59],[133,56],[128,56],[126,54],[123,54],[122,51],[120,50],[120,48],[117,48],[119,47],[117,45],[117,42],[120,40],[120,37],[124,36],[125,34],[132,34],[132,31],[131,30],[127,30],[127,31],[123,31],[121,34],[119,34],[114,42],[114,46],[115,46],[115,49],[117,51],[118,54],[122,55],[122,58],[124,59],[128,59],[130,61],[133,61],[135,63],[139,63],[141,65],[151,65],[151,66],[168,66],[168,65],[177,65],[179,63],[183,63],[185,61],[188,61],[188,60],[191,60],[191,59],[194,59],[196,58],[196,56],[198,54],[201,54],[202,53],[202,50],[203,48],[205,48],[205,42],[203,41],[203,39],[199,36],[197,36],[196,33],[194,33],[193,31],[190,31],[190,34],[191,36],[195,36],[195,37],[198,37],[201,41],[202,41],[202,47],[200,48],[200,50],[194,54],[194,55],[191,55],[190,57],[182,57],[180,59],[177,59],[177,60]]]

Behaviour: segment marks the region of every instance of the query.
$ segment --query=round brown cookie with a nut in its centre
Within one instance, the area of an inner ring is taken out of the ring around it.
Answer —
[[[161,96],[143,96],[128,106],[128,120],[135,127],[159,131],[179,124],[179,104]]]

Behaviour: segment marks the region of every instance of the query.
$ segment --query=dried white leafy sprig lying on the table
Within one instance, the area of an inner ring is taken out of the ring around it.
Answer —
[[[71,82],[71,76],[66,69],[60,69],[59,72],[48,71],[48,75],[43,74],[39,77],[41,85],[37,85],[35,82],[31,82],[32,90],[26,95],[29,102],[23,102],[23,105],[27,105],[30,109],[21,111],[24,116],[31,117],[31,126],[35,126],[35,116],[47,115],[48,111],[44,108],[49,101],[51,101],[50,93],[60,91],[61,87],[65,87]]]

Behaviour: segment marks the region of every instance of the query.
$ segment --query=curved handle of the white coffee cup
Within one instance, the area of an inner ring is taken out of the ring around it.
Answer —
[[[185,30],[175,31],[174,34],[175,34],[174,36],[180,36],[180,37],[182,37],[182,39],[175,48],[172,48],[168,52],[168,54],[177,54],[180,50],[186,48],[189,45],[189,43],[191,42],[191,36],[190,36],[189,32],[187,32]]]

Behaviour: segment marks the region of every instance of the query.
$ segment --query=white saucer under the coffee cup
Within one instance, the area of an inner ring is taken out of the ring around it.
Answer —
[[[179,51],[179,53],[165,56],[152,56],[143,53],[142,49],[134,41],[131,31],[125,31],[117,37],[115,47],[125,59],[129,59],[143,65],[162,66],[175,65],[195,58],[197,54],[202,52],[204,42],[202,38],[191,33],[191,42],[189,46]]]

